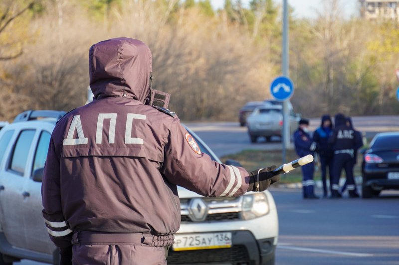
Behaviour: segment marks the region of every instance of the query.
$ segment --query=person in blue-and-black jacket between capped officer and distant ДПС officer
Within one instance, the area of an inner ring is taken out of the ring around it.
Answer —
[[[321,179],[323,182],[323,197],[328,196],[327,192],[327,168],[330,182],[332,182],[332,170],[333,170],[333,151],[331,145],[328,142],[330,136],[333,133],[333,123],[330,115],[323,115],[321,118],[321,125],[313,133],[313,142],[317,144],[317,153],[319,154],[321,164]]]

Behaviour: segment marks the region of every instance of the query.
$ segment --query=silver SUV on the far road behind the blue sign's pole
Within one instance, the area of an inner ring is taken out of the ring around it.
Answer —
[[[295,113],[292,105],[289,105],[288,109],[290,135],[292,135],[298,128],[300,115]],[[252,143],[255,143],[261,136],[265,137],[268,142],[270,142],[272,136],[281,137],[283,128],[282,105],[265,104],[255,108],[247,117],[246,124]]]

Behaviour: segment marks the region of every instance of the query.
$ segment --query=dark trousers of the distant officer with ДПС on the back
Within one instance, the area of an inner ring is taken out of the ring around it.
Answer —
[[[353,157],[350,154],[336,154],[333,162],[333,184],[332,195],[338,195],[340,192],[339,180],[342,169],[345,170],[347,188],[349,195],[355,195],[355,178],[353,177]]]

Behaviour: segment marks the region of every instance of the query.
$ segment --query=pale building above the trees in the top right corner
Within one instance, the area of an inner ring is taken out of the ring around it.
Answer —
[[[360,14],[369,20],[393,19],[399,21],[399,1],[359,0]]]

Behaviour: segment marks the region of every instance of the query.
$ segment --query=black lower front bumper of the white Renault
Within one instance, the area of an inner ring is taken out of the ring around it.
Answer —
[[[171,249],[168,264],[262,265],[274,259],[276,250],[274,238],[256,240],[253,234],[247,230],[231,231],[231,233],[231,248],[190,251],[173,251]]]

